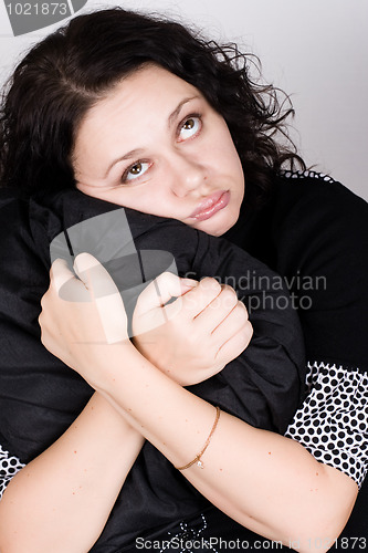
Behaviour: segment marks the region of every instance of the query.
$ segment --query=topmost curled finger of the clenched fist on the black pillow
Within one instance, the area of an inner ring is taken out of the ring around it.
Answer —
[[[197,284],[198,282],[192,279],[180,279],[169,272],[161,273],[139,294],[136,314],[162,307],[172,298],[181,296]]]

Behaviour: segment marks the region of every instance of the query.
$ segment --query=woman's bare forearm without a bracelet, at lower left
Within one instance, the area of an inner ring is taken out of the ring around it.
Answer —
[[[94,394],[66,432],[9,483],[0,501],[0,551],[90,551],[143,442]]]

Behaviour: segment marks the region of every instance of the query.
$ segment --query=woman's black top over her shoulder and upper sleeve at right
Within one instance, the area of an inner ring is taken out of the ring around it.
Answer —
[[[368,204],[340,182],[317,174],[275,180],[256,213],[243,212],[225,238],[285,276],[311,309],[298,314],[311,363],[368,371]],[[326,279],[303,290],[295,275]],[[368,398],[367,398],[368,401]],[[341,538],[368,540],[368,481],[362,484]],[[353,546],[353,542],[345,542]],[[346,551],[339,541],[332,551]]]

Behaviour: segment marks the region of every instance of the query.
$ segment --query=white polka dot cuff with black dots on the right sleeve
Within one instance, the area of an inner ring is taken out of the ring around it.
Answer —
[[[360,488],[368,469],[368,375],[317,362],[308,369],[309,394],[285,436]]]

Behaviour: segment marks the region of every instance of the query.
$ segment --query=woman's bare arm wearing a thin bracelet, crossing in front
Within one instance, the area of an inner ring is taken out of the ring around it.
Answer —
[[[81,262],[93,292],[91,260],[83,257]],[[108,276],[99,272],[99,284],[104,278]],[[88,327],[96,330],[91,312],[86,317],[72,302],[61,302],[53,285],[44,305],[49,313],[60,313],[57,332],[50,333],[45,345],[57,355],[67,349],[67,363],[133,427],[177,467],[201,451],[214,421],[213,406],[162,374],[128,341],[102,346],[95,334],[94,344],[81,344]],[[99,315],[96,309],[95,317]],[[202,460],[204,470],[193,465],[183,471],[201,493],[241,524],[287,545],[297,543],[299,551],[311,551],[315,543],[326,551],[344,528],[357,493],[351,479],[318,463],[297,442],[224,413]]]

